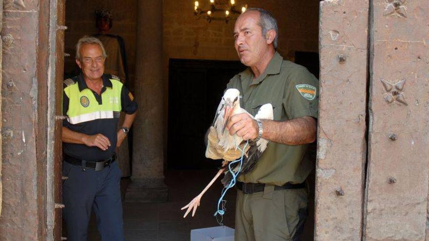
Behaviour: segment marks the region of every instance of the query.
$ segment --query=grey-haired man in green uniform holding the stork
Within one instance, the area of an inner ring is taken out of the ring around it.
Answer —
[[[268,148],[254,169],[238,178],[235,240],[298,241],[307,216],[307,155],[316,137],[318,80],[276,52],[277,23],[263,9],[248,9],[235,22],[235,49],[245,71],[227,88],[240,91],[240,105],[252,115],[266,103],[274,120],[255,121],[247,113],[231,117],[230,134],[264,138]]]

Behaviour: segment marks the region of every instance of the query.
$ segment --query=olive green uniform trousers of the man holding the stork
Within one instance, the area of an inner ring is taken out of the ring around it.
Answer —
[[[307,217],[308,191],[274,190],[244,194],[237,190],[235,241],[299,241]]]

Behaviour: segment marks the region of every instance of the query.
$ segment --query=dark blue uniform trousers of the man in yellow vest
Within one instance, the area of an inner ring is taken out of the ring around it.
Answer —
[[[100,171],[63,162],[63,218],[68,241],[87,241],[91,209],[97,216],[102,241],[123,241],[121,171],[117,162]]]

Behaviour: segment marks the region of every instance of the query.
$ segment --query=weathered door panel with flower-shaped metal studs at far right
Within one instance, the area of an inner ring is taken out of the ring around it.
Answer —
[[[371,2],[365,240],[428,240],[429,5]]]

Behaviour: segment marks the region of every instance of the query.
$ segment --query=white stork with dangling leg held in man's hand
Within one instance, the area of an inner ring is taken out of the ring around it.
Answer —
[[[204,193],[209,189],[215,180],[225,172],[228,168],[228,162],[240,158],[243,153],[243,164],[240,174],[244,174],[254,167],[256,161],[262,155],[262,152],[267,148],[268,140],[259,139],[256,143],[250,142],[250,145],[246,145],[243,138],[236,134],[230,135],[229,131],[226,130],[230,117],[238,113],[248,113],[246,110],[240,107],[240,92],[237,89],[228,89],[216,110],[215,120],[213,125],[209,129],[208,143],[206,149],[206,157],[211,159],[223,159],[222,168],[216,173],[215,177],[210,183],[198,194],[189,204],[182,207],[181,210],[188,208],[183,218],[192,210],[192,217],[194,217],[197,207],[200,204],[200,200]],[[249,114],[249,113],[248,113]],[[273,106],[271,104],[265,104],[261,106],[258,113],[253,117],[254,119],[269,119],[273,120]],[[238,164],[232,167],[237,171]],[[224,186],[228,185],[232,179],[232,174],[229,171],[225,172],[225,177],[222,179]]]

